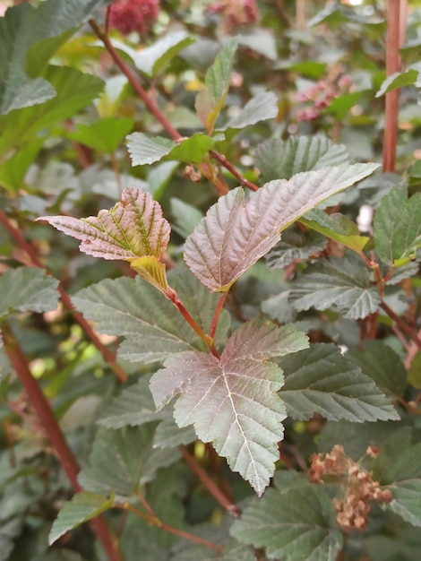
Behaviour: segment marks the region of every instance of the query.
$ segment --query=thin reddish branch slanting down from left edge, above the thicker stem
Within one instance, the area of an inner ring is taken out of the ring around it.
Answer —
[[[15,228],[13,226],[13,224],[10,222],[10,220],[7,218],[7,216],[4,214],[4,211],[1,211],[1,210],[0,210],[0,222],[4,225],[4,228],[9,232],[9,234],[12,237],[14,237],[14,239],[17,241],[19,246],[21,246],[21,248],[30,256],[30,261],[36,267],[40,267],[41,269],[44,269],[47,272],[47,274],[50,274],[49,271],[47,270],[47,268],[41,263],[41,261],[39,259],[39,256],[37,255],[37,252],[34,250],[34,248],[21,235],[21,232],[19,231],[19,229]],[[65,290],[63,289],[63,287],[60,284],[58,285],[58,292],[60,293],[60,298],[62,299],[62,302],[63,302],[64,306],[66,306],[66,308],[69,309],[73,313],[74,319],[77,321],[78,324],[81,325],[82,330],[90,338],[90,341],[92,341],[92,343],[95,345],[95,347],[97,347],[97,349],[102,354],[102,356],[106,360],[109,367],[111,367],[113,369],[116,376],[122,382],[126,382],[127,381],[127,375],[125,374],[125,371],[123,370],[123,368],[120,367],[118,364],[116,364],[115,353],[108,350],[107,347],[105,345],[103,345],[101,343],[101,341],[99,341],[98,335],[96,334],[96,332],[93,331],[93,329],[90,327],[90,324],[88,324],[88,322],[85,320],[83,315],[74,310],[72,300],[70,299],[70,297],[68,296],[68,294],[65,292]]]

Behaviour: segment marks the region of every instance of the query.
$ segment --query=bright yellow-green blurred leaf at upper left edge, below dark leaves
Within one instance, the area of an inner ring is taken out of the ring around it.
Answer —
[[[56,97],[42,105],[0,117],[0,155],[13,147],[20,148],[24,143],[33,142],[39,131],[73,117],[98,97],[104,87],[104,82],[96,76],[83,74],[74,68],[48,66],[44,76],[54,86]]]

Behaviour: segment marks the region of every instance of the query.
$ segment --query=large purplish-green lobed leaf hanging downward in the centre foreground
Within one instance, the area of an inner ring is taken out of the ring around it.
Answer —
[[[262,495],[278,459],[285,419],[275,394],[282,371],[267,359],[307,345],[304,333],[291,326],[250,322],[234,332],[220,358],[198,351],[168,358],[152,376],[150,389],[159,408],[181,393],[177,425],[193,424],[197,436],[213,442],[231,469]]]

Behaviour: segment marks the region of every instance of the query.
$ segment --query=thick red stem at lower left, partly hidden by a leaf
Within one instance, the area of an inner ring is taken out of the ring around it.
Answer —
[[[58,461],[70,480],[75,493],[79,493],[82,491],[82,487],[77,479],[80,467],[57,423],[49,401],[47,401],[47,398],[44,393],[42,393],[37,380],[31,374],[28,361],[23,354],[18,341],[14,337],[12,329],[6,321],[2,323],[2,333],[6,355],[9,358],[16,375],[19,377],[25,392],[30,398],[30,404],[38,415],[41,426],[45,430],[48,439],[54,448]],[[123,561],[105,518],[103,516],[98,516],[90,522],[90,525],[107,551],[107,556],[110,561]]]

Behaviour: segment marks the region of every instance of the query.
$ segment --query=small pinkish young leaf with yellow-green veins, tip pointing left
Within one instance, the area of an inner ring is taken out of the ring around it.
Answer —
[[[56,229],[81,240],[80,250],[103,259],[133,261],[164,254],[170,227],[162,209],[149,193],[126,187],[121,202],[110,211],[99,211],[98,217],[77,219],[67,216],[42,216]]]

